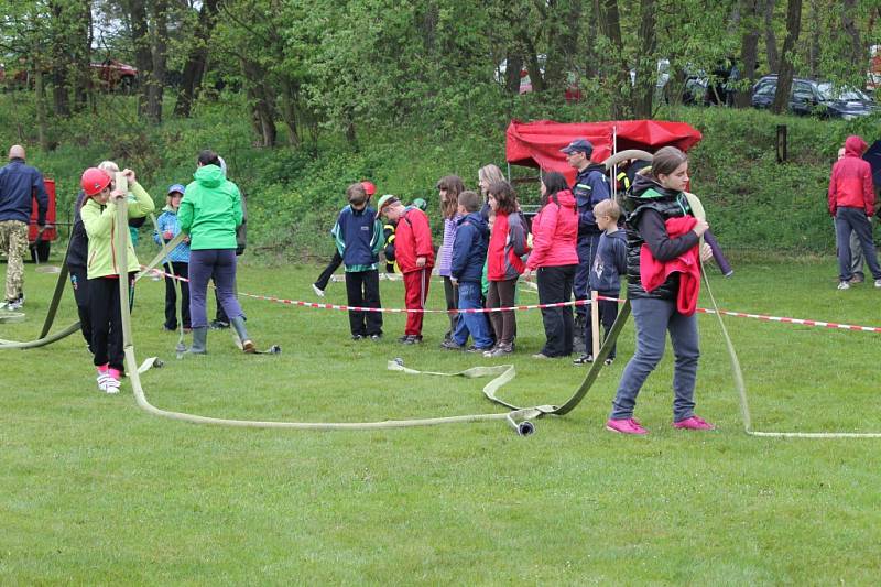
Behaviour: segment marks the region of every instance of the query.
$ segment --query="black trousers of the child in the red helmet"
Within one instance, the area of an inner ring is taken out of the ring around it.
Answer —
[[[128,274],[129,297],[134,287],[134,273]],[[122,313],[119,303],[119,280],[97,278],[89,280],[89,309],[91,311],[91,350],[95,365],[110,363],[111,369],[123,370]]]

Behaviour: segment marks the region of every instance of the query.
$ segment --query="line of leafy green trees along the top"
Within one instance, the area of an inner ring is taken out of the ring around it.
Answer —
[[[138,69],[138,117],[189,117],[199,99],[247,96],[255,142],[298,145],[324,131],[357,143],[372,124],[438,128],[463,112],[530,99],[600,104],[651,118],[689,78],[730,73],[747,107],[779,74],[862,87],[879,44],[877,0],[0,0],[6,80],[26,72],[40,141],[107,91],[96,62]],[[663,77],[665,83],[659,84]],[[18,77],[20,79],[20,76]],[[96,83],[98,81],[98,83]],[[661,86],[663,86],[661,88]],[[661,88],[661,90],[660,90]],[[173,104],[173,106],[171,106]]]

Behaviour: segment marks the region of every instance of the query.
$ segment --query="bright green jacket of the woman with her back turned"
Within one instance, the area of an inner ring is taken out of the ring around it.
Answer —
[[[193,174],[177,210],[181,231],[189,235],[189,249],[235,249],[241,225],[241,193],[217,165],[205,165]]]

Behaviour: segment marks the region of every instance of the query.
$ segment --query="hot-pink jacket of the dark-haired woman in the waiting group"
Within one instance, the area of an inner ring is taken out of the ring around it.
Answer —
[[[532,219],[532,253],[526,261],[526,269],[578,264],[575,196],[568,189],[557,192],[556,196],[558,206],[548,199]]]

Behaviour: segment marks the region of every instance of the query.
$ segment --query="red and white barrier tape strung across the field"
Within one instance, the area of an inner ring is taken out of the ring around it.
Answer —
[[[153,269],[152,273],[157,275],[164,275],[166,278],[172,278],[181,281],[188,282],[189,280],[186,278],[181,278],[178,275],[172,275],[171,273],[166,273],[164,271],[160,271],[159,269]],[[566,307],[566,306],[583,306],[583,305],[590,305],[590,300],[576,300],[573,302],[558,302],[555,304],[532,304],[532,305],[520,305],[520,306],[509,306],[509,307],[491,307],[491,308],[474,308],[474,309],[456,309],[456,311],[447,311],[447,309],[418,309],[418,308],[392,308],[392,307],[362,307],[362,306],[347,306],[342,304],[319,304],[316,302],[303,302],[301,300],[285,300],[283,297],[275,297],[271,295],[255,295],[249,294],[244,292],[239,292],[239,295],[243,295],[246,297],[251,297],[253,300],[264,300],[268,302],[275,302],[279,304],[286,304],[291,306],[300,306],[300,307],[308,307],[315,309],[338,309],[344,312],[382,312],[385,314],[449,314],[450,312],[459,312],[464,314],[488,314],[491,312],[512,312],[512,311],[524,311],[524,309],[541,309],[545,307]],[[599,300],[607,301],[607,302],[618,302],[619,304],[623,303],[624,301],[619,297],[607,297],[605,295],[598,296]],[[714,309],[707,309],[704,307],[697,308],[697,312],[701,314],[716,314]],[[852,324],[840,324],[836,322],[823,322],[823,320],[808,320],[804,318],[788,318],[783,316],[769,316],[765,314],[749,314],[746,312],[730,312],[727,309],[719,309],[719,314],[724,316],[733,316],[736,318],[753,318],[764,322],[780,322],[784,324],[795,324],[801,326],[815,326],[819,328],[834,328],[839,330],[856,330],[860,333],[881,333],[881,327],[877,326],[856,326]]]

